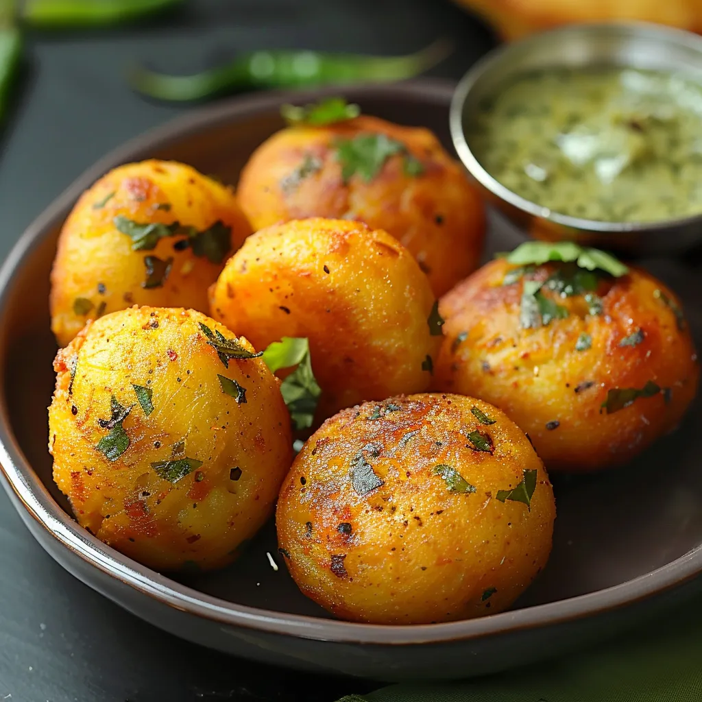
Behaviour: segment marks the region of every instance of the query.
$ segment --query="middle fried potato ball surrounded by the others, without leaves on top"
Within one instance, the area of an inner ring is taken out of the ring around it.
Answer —
[[[441,344],[433,305],[426,276],[390,234],[314,218],[249,237],[211,298],[212,316],[256,348],[309,339],[321,418],[429,387]]]

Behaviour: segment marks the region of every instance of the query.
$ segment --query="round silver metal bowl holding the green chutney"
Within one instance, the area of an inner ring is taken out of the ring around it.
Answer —
[[[498,183],[466,137],[479,103],[505,81],[549,67],[616,66],[673,70],[702,82],[702,37],[643,22],[570,25],[507,44],[477,62],[451,102],[451,136],[463,164],[489,201],[536,239],[568,239],[626,254],[675,253],[702,241],[702,213],[658,222],[604,222],[558,214]],[[642,197],[644,195],[642,194]]]

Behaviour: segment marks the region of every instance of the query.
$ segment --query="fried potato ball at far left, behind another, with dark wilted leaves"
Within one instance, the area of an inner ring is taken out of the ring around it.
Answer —
[[[234,194],[173,161],[119,166],[81,196],[51,272],[65,346],[88,319],[133,304],[207,311],[207,287],[251,234]]]

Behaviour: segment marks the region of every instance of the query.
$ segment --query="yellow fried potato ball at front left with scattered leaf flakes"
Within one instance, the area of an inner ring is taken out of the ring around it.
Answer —
[[[49,451],[82,526],[159,570],[234,559],[292,461],[279,382],[252,351],[200,312],[133,307],[58,352]]]

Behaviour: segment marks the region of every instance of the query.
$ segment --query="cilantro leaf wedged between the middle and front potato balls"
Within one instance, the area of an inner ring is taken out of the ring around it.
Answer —
[[[311,427],[322,389],[312,372],[310,343],[307,338],[284,336],[282,340],[274,341],[263,352],[263,361],[271,373],[297,366],[281,383],[280,392],[295,428]]]

